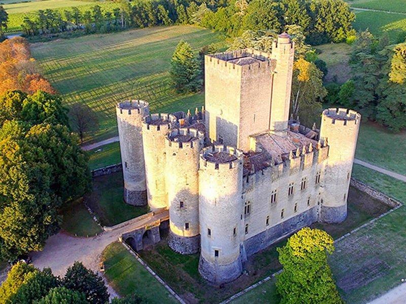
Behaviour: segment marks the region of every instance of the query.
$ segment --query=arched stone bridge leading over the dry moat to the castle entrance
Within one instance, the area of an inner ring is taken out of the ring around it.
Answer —
[[[123,230],[121,238],[134,250],[140,251],[145,247],[156,244],[161,240],[160,229],[167,228],[169,211],[164,209],[149,212],[113,227],[104,227],[106,231]]]

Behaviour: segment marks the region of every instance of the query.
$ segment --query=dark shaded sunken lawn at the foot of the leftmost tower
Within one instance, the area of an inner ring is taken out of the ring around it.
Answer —
[[[85,197],[100,223],[113,226],[148,212],[148,207],[134,207],[123,201],[122,172],[93,178],[92,192]]]

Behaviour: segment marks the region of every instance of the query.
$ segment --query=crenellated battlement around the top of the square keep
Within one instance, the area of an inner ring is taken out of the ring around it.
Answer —
[[[205,66],[222,68],[228,72],[234,70],[239,73],[259,70],[273,71],[276,67],[276,61],[270,56],[271,54],[253,49],[228,51],[206,55]]]

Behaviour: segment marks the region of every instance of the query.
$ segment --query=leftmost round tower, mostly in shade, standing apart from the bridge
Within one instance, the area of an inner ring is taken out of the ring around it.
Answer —
[[[121,162],[124,177],[124,201],[134,206],[147,204],[142,122],[149,115],[148,102],[127,100],[116,105]]]

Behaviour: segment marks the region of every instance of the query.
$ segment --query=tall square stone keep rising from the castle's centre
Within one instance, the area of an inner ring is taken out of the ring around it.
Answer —
[[[251,49],[205,56],[206,131],[212,141],[249,149],[248,136],[269,130],[271,54]]]

